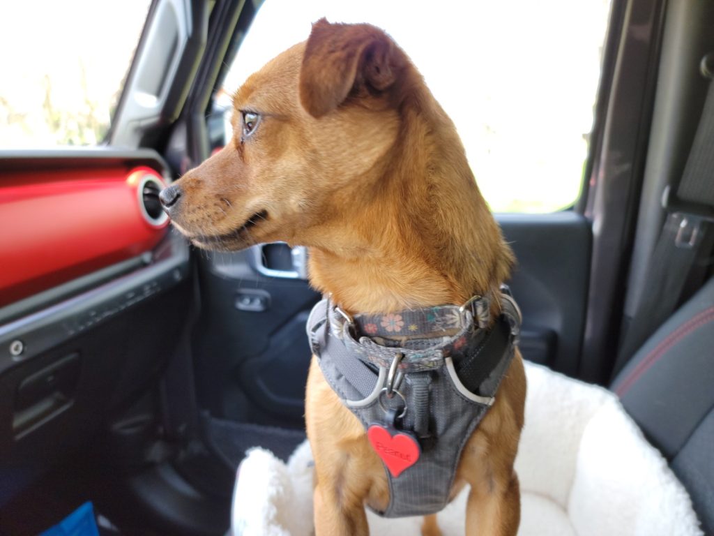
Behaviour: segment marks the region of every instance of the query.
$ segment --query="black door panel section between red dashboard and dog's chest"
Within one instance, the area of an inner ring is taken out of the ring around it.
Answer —
[[[301,427],[310,358],[305,322],[320,297],[303,279],[261,274],[254,255],[248,249],[201,259],[199,400],[216,417]],[[241,302],[248,299],[264,307],[246,309]]]

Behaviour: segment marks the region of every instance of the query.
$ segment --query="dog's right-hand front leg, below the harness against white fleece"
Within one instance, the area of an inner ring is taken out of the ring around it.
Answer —
[[[498,482],[472,486],[466,504],[466,536],[516,536],[521,522],[521,492],[515,471]]]

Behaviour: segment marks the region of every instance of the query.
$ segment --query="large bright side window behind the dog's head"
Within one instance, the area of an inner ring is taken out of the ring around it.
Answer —
[[[411,56],[456,123],[496,212],[551,212],[578,198],[609,0],[266,0],[219,96],[306,39],[311,22],[369,22]]]

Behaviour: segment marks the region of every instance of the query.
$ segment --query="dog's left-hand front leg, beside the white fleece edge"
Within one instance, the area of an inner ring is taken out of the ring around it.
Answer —
[[[316,536],[368,536],[369,527],[364,507],[341,504],[339,490],[330,485],[315,487]]]

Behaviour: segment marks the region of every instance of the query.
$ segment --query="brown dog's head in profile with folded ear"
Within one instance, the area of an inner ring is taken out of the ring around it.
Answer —
[[[407,66],[373,26],[313,24],[238,90],[231,142],[161,192],[174,225],[206,249],[314,244],[331,201],[386,165]]]

